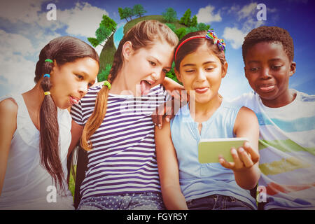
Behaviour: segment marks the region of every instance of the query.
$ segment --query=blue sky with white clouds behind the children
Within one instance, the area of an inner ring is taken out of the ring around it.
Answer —
[[[48,3],[55,3],[57,20],[47,20]],[[0,2],[0,97],[12,92],[25,92],[34,86],[34,71],[43,46],[57,36],[76,36],[83,41],[94,36],[102,15],[109,15],[118,24],[118,7],[132,8],[141,3],[146,15],[161,15],[167,8],[176,10],[178,18],[190,8],[198,22],[214,28],[227,43],[228,75],[221,84],[221,94],[234,98],[251,88],[244,77],[241,43],[244,36],[261,25],[287,29],[295,44],[297,71],[290,78],[290,87],[315,94],[314,1],[186,1],[186,0],[90,0],[45,1],[10,0]],[[258,21],[258,3],[267,6],[267,20]],[[97,52],[102,47],[96,48]]]

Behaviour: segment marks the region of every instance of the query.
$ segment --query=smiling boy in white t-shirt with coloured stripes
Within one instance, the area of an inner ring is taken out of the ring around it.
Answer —
[[[258,27],[245,37],[242,52],[254,92],[233,102],[258,117],[260,205],[315,209],[315,95],[288,89],[296,66],[293,39],[285,29]]]

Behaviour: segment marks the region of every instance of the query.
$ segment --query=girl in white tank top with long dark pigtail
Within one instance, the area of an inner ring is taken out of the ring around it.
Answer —
[[[97,52],[71,36],[41,50],[36,85],[0,102],[0,209],[73,209],[66,186],[71,143],[67,108],[85,95],[99,70]],[[56,193],[49,197],[49,193]]]

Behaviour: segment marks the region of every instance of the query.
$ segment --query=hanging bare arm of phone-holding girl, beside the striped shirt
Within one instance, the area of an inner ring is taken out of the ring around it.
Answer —
[[[188,209],[179,186],[179,165],[173,146],[170,124],[165,122],[161,129],[155,127],[156,157],[163,201],[167,209]]]

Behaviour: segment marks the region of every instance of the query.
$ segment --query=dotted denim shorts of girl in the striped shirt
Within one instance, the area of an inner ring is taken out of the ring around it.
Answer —
[[[87,197],[80,201],[78,210],[164,210],[160,193],[127,193]]]

